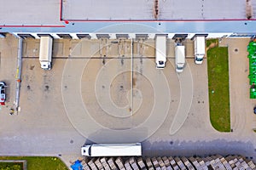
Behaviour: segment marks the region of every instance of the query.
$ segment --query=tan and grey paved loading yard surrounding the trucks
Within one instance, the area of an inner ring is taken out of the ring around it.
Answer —
[[[9,116],[8,108],[0,111],[0,154],[60,154],[68,162],[80,156],[79,149],[85,141],[93,140],[143,141],[145,156],[254,156],[255,133],[249,126],[253,103],[247,107],[246,100],[241,100],[248,98],[248,80],[244,75],[247,41],[228,41],[232,47],[230,71],[238,71],[230,74],[234,132],[218,133],[209,121],[207,59],[203,65],[194,64],[190,41],[186,42],[185,71],[177,75],[172,41],[167,45],[166,68],[156,70],[154,58],[145,57],[154,56],[152,40],[134,42],[132,59],[130,40],[55,40],[53,69],[43,71],[38,61],[38,40],[26,39],[21,110],[14,116]],[[1,57],[0,74],[10,84],[8,105],[12,105],[16,53],[9,49],[15,48],[17,40],[8,37],[1,39],[1,44],[9,44],[1,46],[1,56],[5,57]],[[238,55],[232,53],[234,48],[239,48]],[[239,77],[245,77],[244,81],[236,80]],[[246,96],[233,90],[236,86],[246,89]],[[242,116],[242,111],[247,111],[247,116]]]

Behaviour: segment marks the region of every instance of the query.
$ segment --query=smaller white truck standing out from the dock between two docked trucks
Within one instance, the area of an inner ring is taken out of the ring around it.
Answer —
[[[175,47],[175,68],[177,72],[183,72],[185,65],[185,46],[177,43]]]

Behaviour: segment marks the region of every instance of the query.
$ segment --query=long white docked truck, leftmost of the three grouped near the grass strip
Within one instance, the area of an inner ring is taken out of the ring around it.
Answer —
[[[163,69],[166,66],[166,35],[156,35],[155,63],[157,69]]]

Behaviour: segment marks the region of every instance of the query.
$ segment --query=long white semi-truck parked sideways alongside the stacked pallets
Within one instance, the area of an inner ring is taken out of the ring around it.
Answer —
[[[142,156],[142,144],[90,144],[81,148],[82,156]]]

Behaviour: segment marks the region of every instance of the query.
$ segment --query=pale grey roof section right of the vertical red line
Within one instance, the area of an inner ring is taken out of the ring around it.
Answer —
[[[251,0],[252,1],[252,0]],[[64,20],[242,20],[246,0],[63,0]],[[251,2],[256,7],[256,2]],[[158,10],[158,17],[155,10]],[[254,8],[254,14],[256,12]]]

